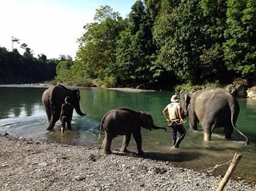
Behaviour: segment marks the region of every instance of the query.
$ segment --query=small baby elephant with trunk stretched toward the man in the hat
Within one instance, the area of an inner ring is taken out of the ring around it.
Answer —
[[[130,137],[133,135],[135,139],[138,155],[143,155],[141,149],[141,127],[149,129],[165,129],[153,124],[153,118],[148,112],[134,111],[129,108],[117,108],[108,111],[101,120],[101,128],[104,128],[105,138],[102,148],[104,154],[111,154],[111,142],[117,135],[124,135],[121,151],[128,152],[127,146],[130,142]],[[101,128],[99,133],[101,132]]]

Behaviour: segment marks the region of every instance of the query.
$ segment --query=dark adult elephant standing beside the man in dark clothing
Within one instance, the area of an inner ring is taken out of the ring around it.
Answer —
[[[84,114],[79,106],[80,95],[78,89],[68,89],[62,85],[51,86],[46,89],[42,94],[42,104],[49,121],[47,130],[51,131],[56,123],[59,120],[61,114],[61,105],[64,103],[65,97],[70,97],[70,103],[75,108],[75,111],[79,115]]]

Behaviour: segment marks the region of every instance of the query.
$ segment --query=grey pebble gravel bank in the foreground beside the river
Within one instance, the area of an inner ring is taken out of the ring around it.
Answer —
[[[0,137],[0,190],[215,190],[220,177],[99,147]],[[229,180],[225,190],[255,190]]]

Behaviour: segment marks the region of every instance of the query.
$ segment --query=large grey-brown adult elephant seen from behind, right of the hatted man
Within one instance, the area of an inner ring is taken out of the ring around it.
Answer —
[[[204,141],[210,141],[215,128],[224,127],[224,137],[230,138],[240,111],[237,99],[222,88],[205,88],[190,94],[180,94],[180,106],[189,115],[189,127],[197,130],[197,122],[204,131]],[[237,128],[241,135],[248,138]]]

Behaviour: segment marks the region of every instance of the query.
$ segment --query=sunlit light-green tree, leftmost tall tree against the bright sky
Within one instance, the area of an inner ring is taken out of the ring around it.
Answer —
[[[126,24],[109,6],[101,6],[94,18],[95,22],[84,26],[86,31],[79,38],[78,62],[72,70],[83,70],[73,73],[104,80],[112,75],[116,63],[116,40]]]

